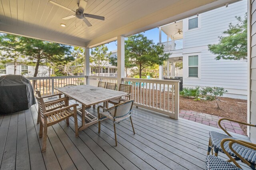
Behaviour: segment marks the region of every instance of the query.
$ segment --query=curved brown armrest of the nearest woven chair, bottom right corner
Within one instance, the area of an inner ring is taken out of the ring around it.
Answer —
[[[240,158],[244,163],[246,163],[248,166],[251,167],[251,164],[245,160],[244,157],[242,157],[240,154],[238,154],[238,152],[236,152],[236,150],[233,149],[232,145],[234,143],[237,143],[237,144],[240,144],[244,147],[247,147],[247,148],[250,148],[250,149],[253,149],[253,150],[256,150],[256,147],[254,146],[255,144],[252,144],[252,143],[248,143],[246,141],[240,141],[240,140],[235,140],[235,139],[230,139],[230,138],[226,138],[226,139],[223,139],[220,143],[220,146],[221,146],[221,149],[224,151],[224,153],[228,156],[228,158],[230,158],[230,160],[232,160],[232,162],[238,167],[238,168],[241,168],[241,166],[234,160],[234,158],[232,158],[232,156],[226,151],[225,147],[224,147],[224,143],[225,142],[229,142],[228,143],[228,147],[230,150],[232,150],[232,152],[234,152],[234,154],[236,154],[236,156],[238,156],[238,158]],[[241,168],[242,169],[242,168]]]

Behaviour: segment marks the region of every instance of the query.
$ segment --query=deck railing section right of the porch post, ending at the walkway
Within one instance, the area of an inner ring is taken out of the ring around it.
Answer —
[[[134,105],[170,116],[179,117],[179,83],[177,80],[123,78],[132,85]]]

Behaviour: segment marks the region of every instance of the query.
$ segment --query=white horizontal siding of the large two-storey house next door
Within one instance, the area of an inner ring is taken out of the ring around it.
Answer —
[[[247,63],[245,61],[216,60],[208,51],[208,44],[219,42],[218,36],[228,29],[236,16],[244,18],[247,1],[242,0],[199,14],[198,29],[188,31],[188,19],[183,20],[183,86],[218,86],[228,90],[224,96],[247,99]],[[188,77],[188,56],[199,55],[199,78]]]

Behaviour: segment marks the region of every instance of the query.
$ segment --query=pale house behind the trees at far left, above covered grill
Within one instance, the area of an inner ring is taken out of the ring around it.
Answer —
[[[25,77],[33,77],[35,72],[35,66],[24,65],[21,63],[17,64],[16,74],[23,75]],[[0,64],[0,75],[2,74],[14,74],[14,64]],[[49,67],[48,66],[39,66],[37,77],[46,77],[49,76]]]

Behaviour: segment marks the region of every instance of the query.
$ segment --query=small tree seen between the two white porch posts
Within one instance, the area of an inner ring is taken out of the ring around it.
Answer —
[[[90,63],[98,68],[98,75],[100,75],[100,70],[103,68],[109,61],[111,52],[106,55],[108,52],[108,47],[105,45],[100,45],[92,49],[90,56]]]

